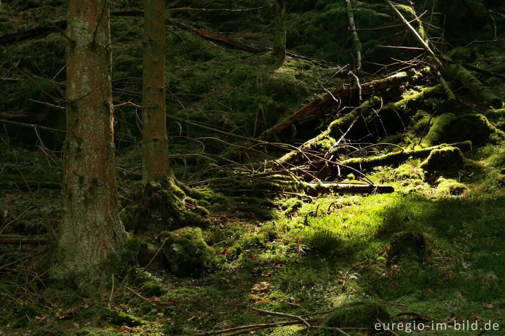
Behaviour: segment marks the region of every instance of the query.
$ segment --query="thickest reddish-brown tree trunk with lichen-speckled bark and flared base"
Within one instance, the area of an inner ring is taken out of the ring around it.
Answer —
[[[86,290],[103,281],[103,261],[121,252],[126,233],[116,190],[108,4],[70,0],[67,18],[68,132],[53,276]]]

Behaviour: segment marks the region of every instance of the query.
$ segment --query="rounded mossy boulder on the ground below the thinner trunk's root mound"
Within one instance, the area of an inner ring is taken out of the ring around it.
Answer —
[[[184,227],[172,232],[162,232],[159,235],[163,246],[163,254],[167,258],[172,273],[176,275],[191,275],[208,268],[215,258],[215,251],[207,245],[201,229]]]

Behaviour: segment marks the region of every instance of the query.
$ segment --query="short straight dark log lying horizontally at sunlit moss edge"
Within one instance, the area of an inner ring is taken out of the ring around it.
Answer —
[[[394,188],[385,184],[371,185],[368,183],[309,183],[305,193],[309,196],[319,194],[373,194],[392,193]]]

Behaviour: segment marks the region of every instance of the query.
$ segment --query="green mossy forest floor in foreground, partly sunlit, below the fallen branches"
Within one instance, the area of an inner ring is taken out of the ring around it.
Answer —
[[[16,160],[4,165],[3,174],[6,170],[19,174],[18,167],[44,170],[58,163],[40,151],[5,144],[2,157],[7,155]],[[493,170],[505,169],[505,144],[487,145],[468,155]],[[411,160],[401,171],[419,175],[419,163]],[[57,179],[57,170],[53,172]],[[46,181],[51,180],[49,175],[44,176]],[[30,178],[27,172],[24,176]],[[218,259],[196,277],[175,277],[161,265],[131,269],[129,275],[116,277],[107,291],[82,297],[47,284],[40,273],[43,256],[18,263],[3,270],[0,333],[197,334],[292,320],[255,309],[304,315],[352,302],[379,302],[397,320],[410,321],[413,329],[414,323],[424,323],[424,331],[417,333],[505,334],[504,182],[486,173],[467,183],[468,189],[451,191],[419,179],[401,181],[398,170],[391,167],[369,177],[376,183],[391,183],[396,192],[291,199],[290,208],[265,221],[254,213],[227,211],[231,204],[215,209],[203,233]],[[406,190],[412,185],[416,192]],[[2,193],[0,202],[11,230],[19,225],[23,235],[36,235],[44,230],[42,218],[52,225],[59,220],[57,190],[22,184],[5,190],[9,191]],[[399,232],[422,233],[426,258],[415,257],[414,250],[386,266],[391,238]],[[6,264],[33,248],[2,249]],[[44,246],[35,251],[44,251]],[[321,316],[325,315],[314,317]],[[472,323],[478,325],[478,331],[454,330],[466,328],[467,321],[470,328]],[[489,322],[491,330],[481,331]],[[442,323],[438,329],[447,330],[434,331],[436,323]],[[306,330],[295,324],[255,334],[301,335]],[[352,329],[346,332],[352,334]]]

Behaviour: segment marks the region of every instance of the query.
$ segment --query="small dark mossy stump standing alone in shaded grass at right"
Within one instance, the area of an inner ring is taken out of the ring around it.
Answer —
[[[386,267],[391,268],[400,260],[424,262],[428,259],[426,236],[420,232],[399,232],[389,241]]]

